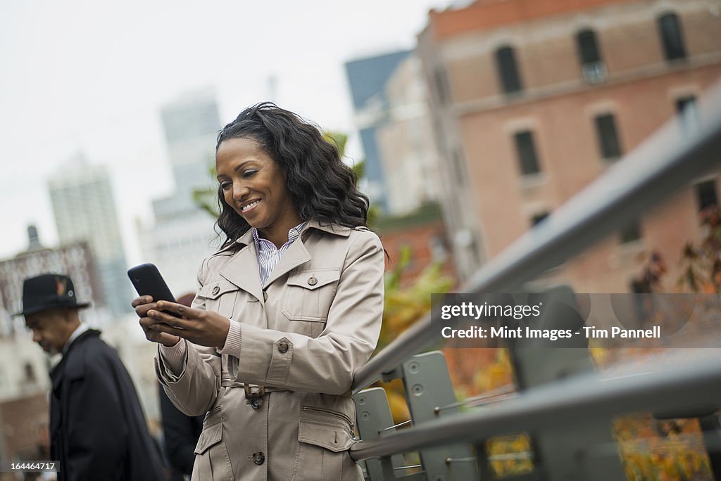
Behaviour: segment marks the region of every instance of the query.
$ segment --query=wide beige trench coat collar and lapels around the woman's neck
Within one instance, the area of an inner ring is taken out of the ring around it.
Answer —
[[[303,230],[301,230],[301,235],[298,236],[295,242],[288,246],[288,250],[283,254],[280,262],[278,262],[278,265],[275,266],[275,269],[273,269],[273,272],[267,278],[265,285],[261,286],[260,277],[257,272],[257,249],[255,242],[253,242],[252,230],[248,229],[246,233],[236,240],[236,243],[242,247],[234,254],[233,259],[220,269],[219,274],[255,296],[257,300],[262,300],[262,291],[274,282],[275,279],[282,277],[284,274],[287,274],[288,271],[311,260],[311,255],[303,242],[303,239],[306,237],[306,231],[309,229],[321,230],[322,232],[340,235],[342,237],[348,237],[348,235],[350,235],[350,228],[348,227],[329,223],[322,224],[317,220],[309,220]],[[250,275],[248,273],[249,268],[253,270]]]

